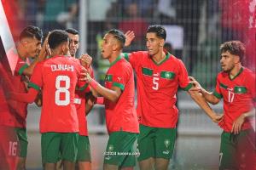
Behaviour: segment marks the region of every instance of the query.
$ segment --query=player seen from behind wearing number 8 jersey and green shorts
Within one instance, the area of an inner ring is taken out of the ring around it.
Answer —
[[[31,103],[38,90],[44,89],[40,118],[44,169],[55,169],[60,153],[64,169],[74,169],[79,132],[74,94],[83,67],[77,59],[67,56],[69,42],[66,31],[52,31],[48,42],[51,58],[36,65],[28,94],[13,93],[11,98]]]

